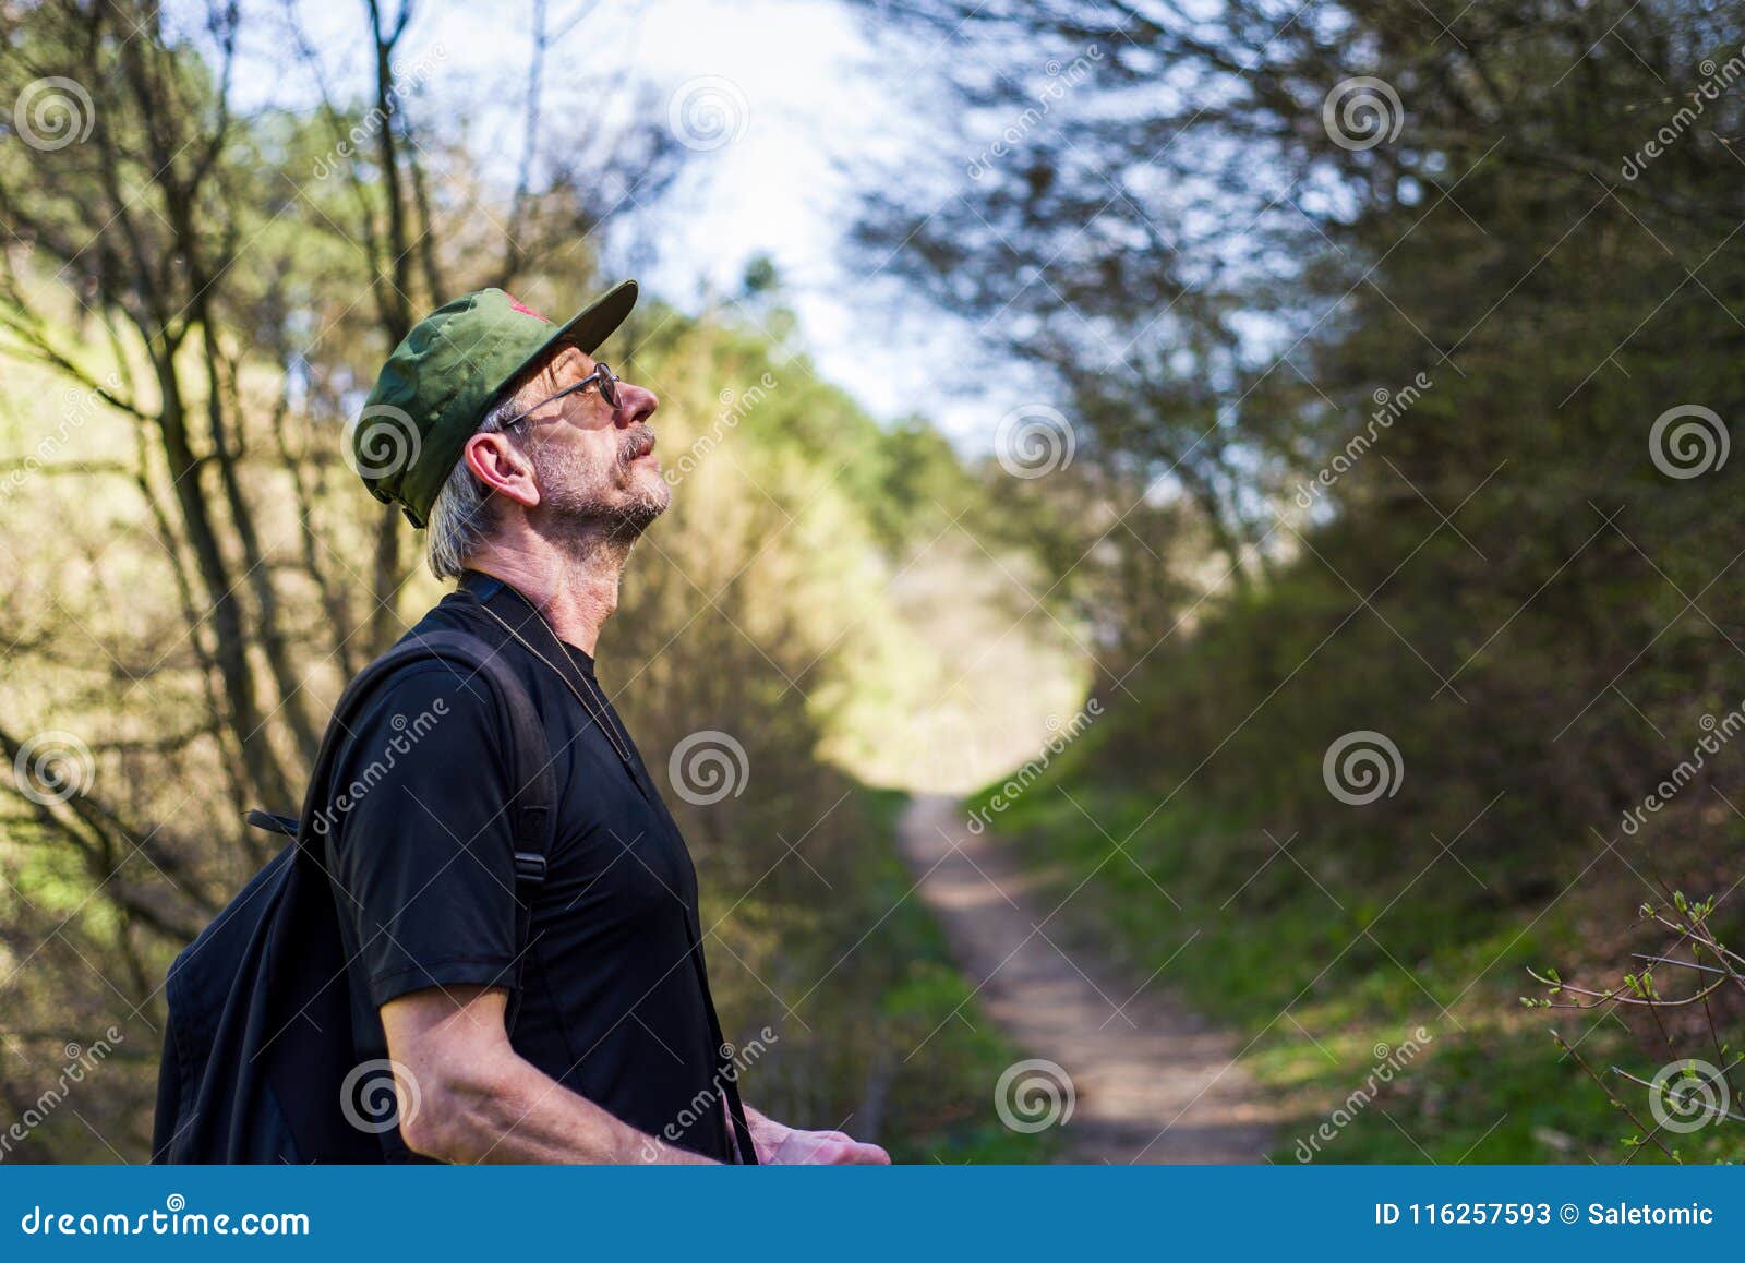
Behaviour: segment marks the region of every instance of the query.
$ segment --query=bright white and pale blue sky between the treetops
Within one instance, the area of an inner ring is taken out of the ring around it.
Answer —
[[[368,82],[361,0],[293,0],[337,87]],[[263,16],[279,0],[262,0]],[[738,290],[745,263],[775,260],[799,316],[789,345],[881,420],[925,406],[963,450],[986,450],[998,419],[1026,399],[941,394],[937,382],[972,358],[972,328],[902,302],[888,274],[841,248],[853,215],[845,164],[937,159],[927,150],[942,108],[937,42],[874,33],[838,0],[548,0],[560,31],[544,110],[602,108],[606,85],[632,75],[654,85],[668,126],[695,148],[654,213],[658,258],[639,279],[684,309]],[[520,152],[534,0],[422,0],[401,65],[419,68],[421,110],[464,108],[473,145],[508,185]],[[257,30],[237,77],[250,92],[295,101],[272,23]],[[248,73],[258,59],[255,73]],[[272,73],[267,73],[272,66]],[[619,94],[628,99],[628,92]],[[611,108],[607,103],[606,108]]]

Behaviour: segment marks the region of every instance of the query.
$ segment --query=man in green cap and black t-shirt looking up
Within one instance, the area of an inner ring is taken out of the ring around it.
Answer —
[[[368,792],[328,830],[325,862],[356,1055],[391,1061],[398,1082],[389,1158],[754,1160],[733,1120],[696,872],[593,675],[619,574],[670,497],[654,394],[592,358],[635,295],[625,281],[564,326],[499,290],[452,302],[394,349],[351,436],[370,492],[426,527],[431,567],[459,581],[408,635],[496,645],[557,773],[522,949],[504,809],[517,787],[476,682],[414,663],[340,757],[333,783]],[[757,1162],[890,1160],[841,1132],[743,1120]]]

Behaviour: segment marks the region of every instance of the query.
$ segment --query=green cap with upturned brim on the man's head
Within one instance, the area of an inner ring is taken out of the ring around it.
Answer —
[[[558,347],[593,354],[637,305],[619,281],[567,324],[553,324],[503,290],[455,298],[421,319],[382,365],[346,457],[370,494],[424,527],[436,492],[504,387]]]

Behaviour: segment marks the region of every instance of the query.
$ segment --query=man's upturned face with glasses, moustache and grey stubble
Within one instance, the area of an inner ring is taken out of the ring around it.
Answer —
[[[565,349],[522,399],[537,405],[593,370],[590,356]],[[604,530],[611,541],[632,543],[672,499],[647,424],[660,401],[630,382],[616,382],[612,391],[616,408],[595,382],[539,405],[522,422],[541,497],[529,516],[555,536],[597,537]]]

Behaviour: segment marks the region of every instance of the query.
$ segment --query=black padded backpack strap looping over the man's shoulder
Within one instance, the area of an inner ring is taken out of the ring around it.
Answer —
[[[513,1024],[522,991],[522,963],[532,939],[532,900],[546,877],[546,855],[551,848],[551,829],[557,816],[557,773],[544,724],[534,710],[532,698],[503,661],[501,649],[471,632],[428,632],[408,637],[365,666],[340,694],[328,722],[321,752],[316,755],[316,773],[309,780],[309,797],[304,802],[297,827],[298,850],[316,843],[314,822],[326,809],[328,780],[333,762],[351,734],[347,724],[361,712],[368,696],[389,677],[412,663],[445,661],[457,670],[462,682],[482,679],[497,700],[499,719],[508,738],[508,766],[511,795],[504,804],[510,813],[510,832],[515,846],[515,965],[513,993],[508,1021]],[[262,813],[263,815],[263,813]]]

